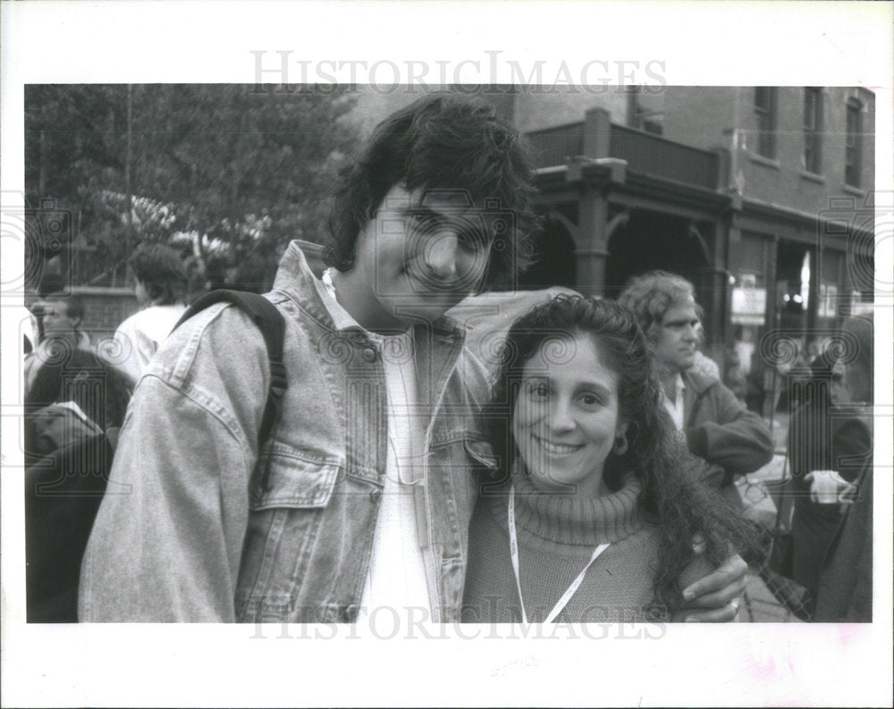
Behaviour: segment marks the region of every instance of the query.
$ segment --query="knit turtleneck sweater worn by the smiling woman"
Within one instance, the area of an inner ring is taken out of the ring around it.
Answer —
[[[590,560],[598,544],[610,544],[586,571],[583,583],[557,622],[644,622],[657,568],[659,530],[639,511],[640,483],[629,477],[614,494],[578,499],[544,494],[527,476],[513,474],[519,540],[519,577],[527,620],[543,622]],[[512,570],[509,488],[485,492],[469,530],[464,622],[519,622],[519,592]],[[711,571],[696,558],[680,578],[686,587]]]

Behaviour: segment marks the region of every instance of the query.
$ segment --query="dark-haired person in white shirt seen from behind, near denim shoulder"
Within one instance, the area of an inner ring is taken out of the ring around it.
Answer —
[[[114,333],[114,354],[106,359],[134,382],[186,310],[186,269],[180,254],[164,244],[143,244],[128,259],[139,312]]]

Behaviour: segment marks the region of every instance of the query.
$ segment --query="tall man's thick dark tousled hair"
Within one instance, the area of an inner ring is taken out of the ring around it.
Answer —
[[[493,199],[511,215],[507,228],[494,230],[483,288],[507,283],[533,260],[533,175],[524,139],[493,106],[452,94],[419,98],[379,123],[356,162],[342,169],[325,261],[340,271],[354,266],[358,234],[394,185],[462,190],[476,205]]]

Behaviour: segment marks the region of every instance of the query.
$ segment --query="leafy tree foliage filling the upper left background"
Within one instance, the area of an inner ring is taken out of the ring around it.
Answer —
[[[121,283],[140,242],[165,241],[201,280],[260,291],[291,239],[324,239],[353,104],[349,89],[29,86],[26,199],[70,215],[75,284]]]

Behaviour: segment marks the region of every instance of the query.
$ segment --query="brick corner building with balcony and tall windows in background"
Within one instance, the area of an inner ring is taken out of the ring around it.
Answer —
[[[519,93],[548,254],[521,285],[611,296],[673,271],[696,283],[714,359],[784,367],[873,300],[874,111],[858,88]]]

